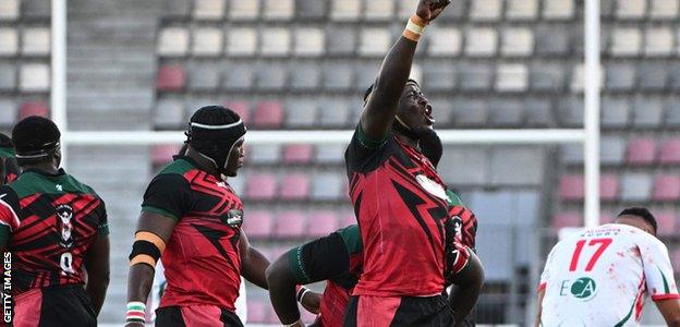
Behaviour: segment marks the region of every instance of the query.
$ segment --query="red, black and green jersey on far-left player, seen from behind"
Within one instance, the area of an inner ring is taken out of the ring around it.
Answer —
[[[108,232],[104,201],[63,170],[27,170],[0,187],[0,245],[12,253],[13,293],[83,283],[87,250]]]

